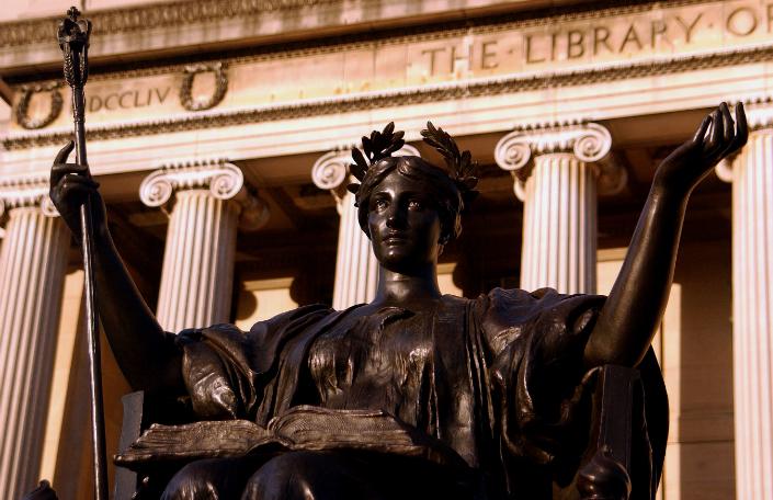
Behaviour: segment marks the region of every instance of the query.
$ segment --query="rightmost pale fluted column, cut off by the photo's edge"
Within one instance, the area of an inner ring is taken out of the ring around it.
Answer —
[[[773,106],[748,116],[748,145],[717,168],[732,182],[736,498],[773,500]]]

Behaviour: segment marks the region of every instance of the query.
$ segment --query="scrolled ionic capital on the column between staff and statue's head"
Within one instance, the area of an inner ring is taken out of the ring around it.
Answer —
[[[218,200],[232,200],[240,208],[239,228],[255,230],[269,219],[269,207],[245,185],[239,167],[225,159],[169,163],[151,172],[139,185],[139,198],[147,206],[166,205],[178,191],[208,190]]]

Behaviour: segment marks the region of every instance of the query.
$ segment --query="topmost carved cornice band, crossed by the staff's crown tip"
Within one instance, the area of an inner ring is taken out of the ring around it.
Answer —
[[[133,33],[149,29],[205,23],[285,11],[342,0],[212,0],[177,1],[137,5],[130,9],[87,12],[93,23],[94,35],[103,33]],[[0,47],[18,47],[50,42],[56,34],[59,18],[42,18],[29,21],[0,23]]]

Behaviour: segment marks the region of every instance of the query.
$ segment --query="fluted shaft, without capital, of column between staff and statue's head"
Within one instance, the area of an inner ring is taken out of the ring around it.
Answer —
[[[180,191],[169,219],[158,321],[168,331],[227,322],[238,206],[208,190]]]

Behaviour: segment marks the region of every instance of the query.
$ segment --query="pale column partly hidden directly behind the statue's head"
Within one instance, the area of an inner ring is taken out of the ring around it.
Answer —
[[[406,145],[395,156],[421,155],[414,147]],[[339,149],[322,155],[311,168],[314,183],[333,194],[341,216],[333,286],[333,309],[337,310],[371,302],[378,284],[378,262],[371,240],[357,223],[354,195],[346,191],[346,185],[352,182],[349,175],[351,162],[351,149]]]

